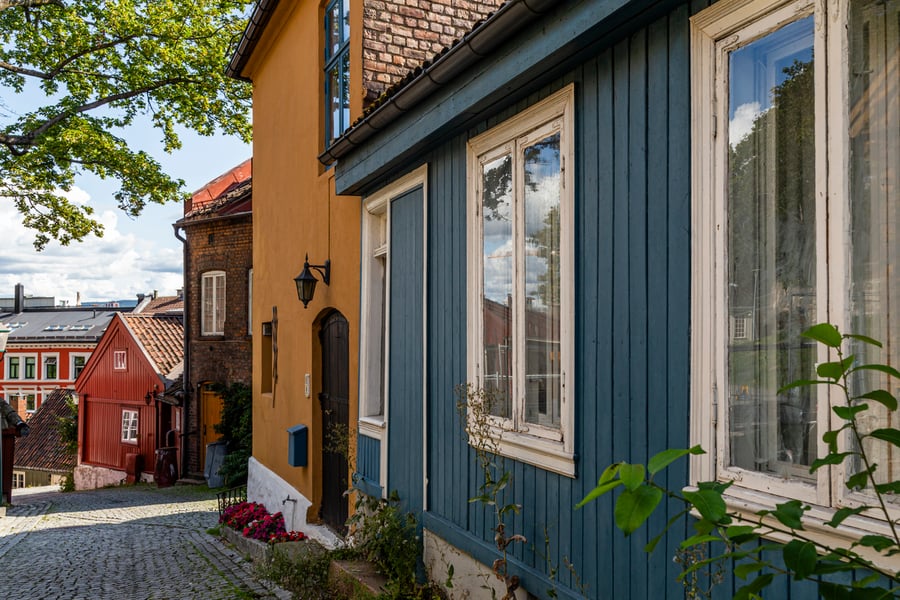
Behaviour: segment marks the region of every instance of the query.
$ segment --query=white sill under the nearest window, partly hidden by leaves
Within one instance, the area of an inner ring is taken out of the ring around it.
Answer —
[[[723,496],[728,511],[737,513],[740,518],[748,523],[759,523],[760,517],[756,514],[761,510],[772,510],[776,504],[781,504],[791,498],[784,498],[773,494],[739,488],[736,485],[728,488]],[[831,521],[835,509],[809,504],[810,510],[803,515],[803,535],[818,543],[825,544],[832,548],[850,548],[850,546],[858,541],[864,535],[884,535],[891,537],[890,528],[885,521],[865,516],[850,516],[837,528],[826,525]],[[772,523],[774,526],[784,527],[773,517],[763,519],[763,523]],[[792,539],[788,535],[773,534],[766,536],[778,542],[787,542]],[[891,571],[900,571],[900,555],[885,556],[873,550],[872,548],[864,548],[857,546],[853,549],[863,558],[871,561],[878,567],[889,569]]]

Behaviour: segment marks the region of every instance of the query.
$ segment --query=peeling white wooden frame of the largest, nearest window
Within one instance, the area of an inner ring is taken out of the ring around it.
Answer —
[[[785,499],[809,502],[804,523],[809,535],[828,543],[847,544],[865,533],[887,532],[883,521],[851,517],[837,530],[824,525],[835,509],[863,500],[850,494],[844,465],[823,467],[809,481],[784,479],[730,467],[727,462],[727,345],[729,315],[725,252],[727,248],[727,52],[814,14],[816,137],[816,322],[832,322],[842,331],[848,302],[848,234],[850,185],[848,2],[816,0],[722,0],[691,19],[692,72],[692,306],[691,306],[691,442],[707,454],[691,459],[691,480],[732,481],[726,500],[748,515]],[[724,73],[718,76],[717,73]],[[827,112],[826,112],[827,109]],[[861,332],[871,333],[871,332]],[[833,360],[817,348],[817,361]],[[817,386],[817,453],[827,447],[821,435],[834,427],[830,407],[839,402],[829,386]],[[897,515],[894,515],[896,518]],[[755,517],[758,518],[758,517]],[[897,568],[896,558],[869,556]]]

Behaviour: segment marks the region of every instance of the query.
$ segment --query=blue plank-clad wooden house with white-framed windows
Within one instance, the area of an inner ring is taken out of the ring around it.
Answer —
[[[434,579],[477,588],[500,556],[466,383],[529,597],[683,597],[685,526],[644,552],[678,507],[627,538],[611,498],[573,508],[666,448],[709,452],[664,484],[800,498],[838,544],[878,528],[820,527],[853,501],[808,472],[830,400],[775,390],[825,359],[814,322],[900,340],[898,6],[510,0],[320,157],[363,197],[357,485],[420,514]]]

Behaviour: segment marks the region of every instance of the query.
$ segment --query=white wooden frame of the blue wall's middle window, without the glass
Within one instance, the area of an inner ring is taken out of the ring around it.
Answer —
[[[467,147],[468,201],[468,360],[467,380],[481,387],[483,357],[483,236],[480,207],[481,164],[487,155],[498,154],[504,146],[515,147],[537,129],[560,132],[560,168],[562,196],[560,198],[560,428],[544,428],[533,423],[524,424],[524,398],[513,398],[514,418],[494,418],[492,426],[499,444],[499,452],[537,467],[568,477],[575,476],[574,446],[574,281],[575,281],[575,224],[574,224],[574,114],[575,86],[569,85],[514,117],[469,140]],[[541,135],[544,135],[543,133]],[[499,154],[498,154],[499,155]],[[514,178],[517,174],[514,173]],[[518,227],[518,225],[516,226]],[[521,270],[516,268],[515,289],[521,289]],[[513,310],[514,314],[517,312]],[[522,319],[514,316],[523,330]],[[524,354],[524,353],[523,353]],[[526,357],[517,356],[516,373],[524,373]],[[524,389],[524,385],[519,386]],[[521,413],[521,414],[519,414]],[[518,418],[515,418],[518,417]],[[521,423],[516,430],[516,422]]]

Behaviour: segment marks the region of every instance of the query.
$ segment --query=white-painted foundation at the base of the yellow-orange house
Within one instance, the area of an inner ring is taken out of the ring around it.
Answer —
[[[337,548],[344,544],[327,527],[307,523],[306,513],[312,502],[252,456],[247,464],[247,500],[262,504],[270,513],[280,512],[288,531],[302,531],[326,548]]]

